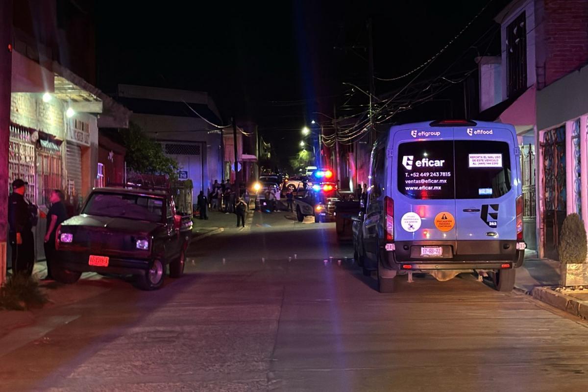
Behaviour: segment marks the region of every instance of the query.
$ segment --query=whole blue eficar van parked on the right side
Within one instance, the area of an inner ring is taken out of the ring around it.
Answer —
[[[518,152],[503,123],[412,123],[376,141],[355,250],[380,292],[411,272],[476,271],[513,289],[526,247]]]

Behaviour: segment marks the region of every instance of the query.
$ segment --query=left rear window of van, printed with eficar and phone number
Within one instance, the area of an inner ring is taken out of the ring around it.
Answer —
[[[453,140],[398,146],[398,190],[411,199],[454,199]]]

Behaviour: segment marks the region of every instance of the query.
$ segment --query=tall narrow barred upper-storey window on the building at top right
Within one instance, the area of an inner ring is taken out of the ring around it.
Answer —
[[[524,11],[506,26],[506,84],[509,97],[527,89],[527,28]]]

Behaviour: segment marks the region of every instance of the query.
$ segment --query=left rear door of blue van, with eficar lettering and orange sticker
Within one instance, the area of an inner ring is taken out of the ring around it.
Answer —
[[[392,146],[397,260],[452,259],[456,240],[453,128],[400,130]]]

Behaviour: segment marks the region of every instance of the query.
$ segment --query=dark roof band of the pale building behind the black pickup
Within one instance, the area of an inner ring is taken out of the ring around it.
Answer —
[[[188,105],[190,105],[190,107],[196,110],[196,112],[198,112],[203,118],[218,125],[222,124],[222,121],[214,112],[212,112],[208,105],[204,105],[203,103],[188,102],[188,105],[186,105],[186,103],[183,102],[169,100],[127,98],[121,96],[117,97],[116,100],[131,109],[133,113],[198,118],[198,115],[188,107]]]

